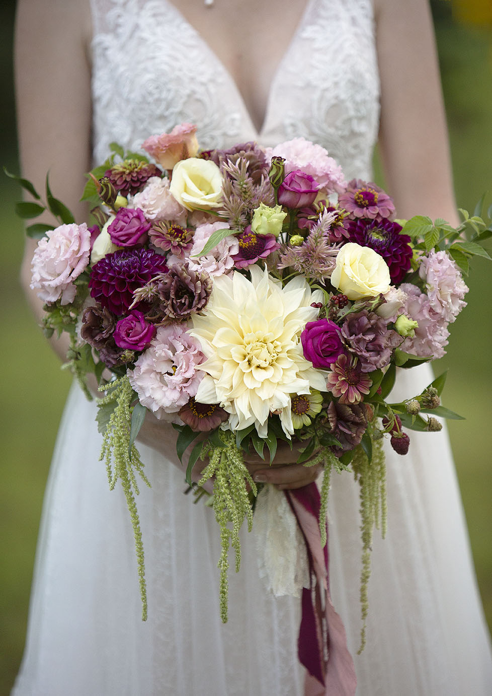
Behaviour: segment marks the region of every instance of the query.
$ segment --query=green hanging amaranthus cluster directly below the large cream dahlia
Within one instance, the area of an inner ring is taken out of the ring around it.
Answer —
[[[241,562],[239,530],[245,519],[247,519],[248,531],[251,531],[253,523],[253,509],[249,502],[247,485],[249,484],[254,496],[256,496],[256,485],[245,466],[242,452],[236,447],[236,436],[231,432],[221,432],[220,438],[224,442],[223,448],[207,443],[202,450],[202,458],[208,456],[210,461],[202,472],[199,486],[203,486],[208,479],[215,477],[212,507],[215,519],[220,526],[222,547],[218,562],[220,617],[225,624],[229,595],[227,580],[229,544],[235,552],[237,573]],[[232,523],[232,528],[228,526],[228,523]]]

